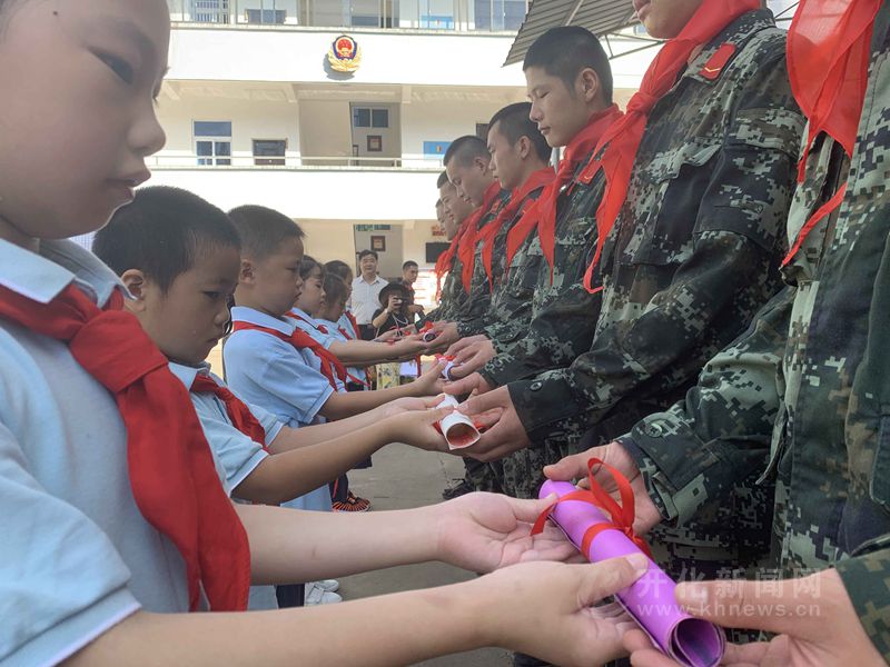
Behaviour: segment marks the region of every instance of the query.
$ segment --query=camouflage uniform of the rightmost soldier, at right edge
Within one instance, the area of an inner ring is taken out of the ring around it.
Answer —
[[[847,180],[841,207],[807,236],[783,270],[785,289],[704,368],[686,400],[622,438],[678,529],[718,506],[738,511],[740,482],[752,474],[763,486],[774,480],[771,565],[783,577],[833,565],[888,661],[889,22],[884,4],[852,159],[817,139],[788,238]]]

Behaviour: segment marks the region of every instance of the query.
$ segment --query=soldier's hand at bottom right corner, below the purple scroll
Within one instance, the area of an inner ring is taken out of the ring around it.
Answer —
[[[879,585],[884,584],[880,581]],[[728,646],[723,665],[870,667],[886,664],[866,635],[834,569],[782,581],[680,584],[675,595],[693,616],[725,627],[778,634],[771,641]],[[641,635],[634,631],[625,637],[633,665],[676,665]]]

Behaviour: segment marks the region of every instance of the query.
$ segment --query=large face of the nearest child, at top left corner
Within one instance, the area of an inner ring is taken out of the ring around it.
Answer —
[[[164,0],[17,2],[0,32],[0,238],[98,229],[165,142]]]

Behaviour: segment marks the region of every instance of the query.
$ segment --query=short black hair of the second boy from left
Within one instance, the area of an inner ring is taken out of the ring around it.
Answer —
[[[241,249],[228,216],[192,192],[166,186],[138,190],[92,241],[92,251],[118,276],[137,269],[162,292],[198,257],[219,248]]]

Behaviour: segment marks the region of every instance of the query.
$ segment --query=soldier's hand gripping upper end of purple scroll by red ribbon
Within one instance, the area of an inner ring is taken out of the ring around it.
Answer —
[[[617,442],[610,442],[602,447],[592,447],[581,454],[574,454],[560,459],[552,466],[544,466],[544,475],[554,481],[574,481],[581,479],[578,486],[587,487],[587,461],[592,458],[599,458],[604,464],[616,468],[619,472],[627,478],[631,482],[631,488],[634,495],[634,509],[635,518],[633,521],[633,529],[636,535],[644,535],[652,529],[653,526],[661,522],[662,517],[659,508],[652,501],[646,490],[646,485],[643,481],[643,476],[640,475],[640,468],[633,457],[627,454]],[[602,469],[596,474],[596,480],[602,487],[619,499],[619,490],[615,486],[615,480],[607,470]]]

